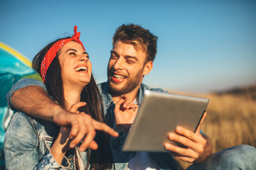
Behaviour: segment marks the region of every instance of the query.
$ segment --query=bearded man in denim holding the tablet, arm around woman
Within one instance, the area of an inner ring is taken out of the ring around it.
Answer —
[[[211,154],[210,138],[203,132],[201,133],[200,128],[193,133],[178,127],[176,133],[170,133],[169,140],[179,142],[187,147],[185,149],[166,143],[164,147],[172,154],[167,152],[122,152],[122,146],[130,125],[133,123],[134,115],[114,115],[115,105],[122,98],[129,98],[130,101],[139,105],[142,102],[144,91],[147,89],[166,93],[162,89],[150,89],[149,86],[142,84],[144,76],[149,74],[153,67],[156,56],[156,40],[157,37],[149,30],[134,24],[120,26],[113,37],[113,49],[107,67],[107,82],[99,84],[99,89],[105,103],[105,123],[119,132],[119,137],[113,138],[110,142],[117,169],[177,169],[173,156],[186,162],[196,163],[189,169],[206,169],[206,167],[208,169],[220,167],[235,169],[243,168],[242,166],[253,169],[256,166],[255,160],[253,160],[256,156],[254,147],[240,145],[217,154]],[[74,137],[74,139],[70,146],[78,145],[85,136],[85,132],[80,130],[83,126],[82,123],[78,123],[75,114],[63,110],[50,101],[46,91],[40,86],[43,87],[43,84],[38,81],[19,81],[6,98],[16,110],[38,118],[52,120],[58,125],[72,126],[70,137]],[[204,118],[205,116],[206,114]],[[90,144],[85,144],[85,146],[88,145]],[[240,159],[241,157],[243,158]]]

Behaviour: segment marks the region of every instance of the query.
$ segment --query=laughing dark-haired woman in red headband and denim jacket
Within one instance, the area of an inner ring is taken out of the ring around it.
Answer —
[[[33,68],[41,74],[53,100],[74,114],[82,114],[81,121],[87,122],[88,132],[94,128],[100,131],[90,148],[80,152],[79,145],[69,146],[70,128],[18,112],[6,130],[6,169],[114,169],[109,136],[104,132],[114,137],[118,133],[103,124],[102,99],[92,77],[89,55],[76,29],[75,26],[72,38],[55,40],[38,52]],[[92,138],[86,136],[84,140]]]

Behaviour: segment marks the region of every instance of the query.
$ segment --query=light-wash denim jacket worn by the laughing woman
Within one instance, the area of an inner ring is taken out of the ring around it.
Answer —
[[[68,150],[61,165],[50,153],[58,132],[59,127],[55,123],[15,113],[4,138],[6,169],[75,169],[77,147]],[[80,152],[85,164],[86,156],[86,152]]]

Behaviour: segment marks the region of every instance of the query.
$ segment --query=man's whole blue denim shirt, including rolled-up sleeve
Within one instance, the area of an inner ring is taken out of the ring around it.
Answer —
[[[11,96],[14,94],[15,91],[18,89],[21,89],[25,86],[29,85],[36,85],[41,86],[43,89],[46,90],[46,86],[41,82],[34,79],[21,79],[19,80],[14,86],[11,88],[8,94],[6,94],[6,100],[8,101],[9,107],[11,109],[14,109],[11,105]],[[112,96],[110,95],[107,87],[107,83],[98,84],[98,88],[100,90],[100,93],[102,95],[102,100],[105,105],[104,109],[104,115],[105,115],[105,123],[109,125],[110,127],[115,129],[115,118],[114,118],[114,106],[115,103],[112,100]],[[146,90],[152,90],[152,91],[161,91],[164,93],[167,93],[167,91],[164,91],[163,89],[151,89],[149,86],[146,86],[145,84],[142,84],[139,88],[138,93],[138,104],[142,102],[144,91]],[[127,137],[127,133],[119,132],[119,137],[111,137],[110,140],[110,147],[112,148],[113,157],[114,157],[114,169],[126,169],[127,165],[129,163],[129,160],[134,157],[136,152],[122,152],[122,147],[124,145],[124,141]],[[23,137],[20,137],[19,140],[24,140]],[[5,144],[6,145],[6,144]],[[46,150],[45,150],[46,152]],[[44,153],[44,152],[42,152]],[[177,169],[176,161],[171,156],[171,154],[167,152],[149,152],[149,157],[151,160],[154,161],[156,166],[158,166],[158,169]],[[20,158],[13,158],[15,159],[14,162],[19,162]],[[86,159],[85,159],[86,160]],[[6,162],[7,163],[7,162]],[[8,164],[8,163],[7,163]]]

